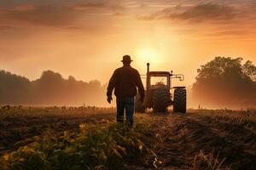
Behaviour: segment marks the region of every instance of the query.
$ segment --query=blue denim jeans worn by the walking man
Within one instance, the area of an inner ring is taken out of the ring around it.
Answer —
[[[133,123],[133,113],[134,113],[134,98],[133,97],[117,97],[117,122],[124,121],[124,113],[126,116],[127,123]]]

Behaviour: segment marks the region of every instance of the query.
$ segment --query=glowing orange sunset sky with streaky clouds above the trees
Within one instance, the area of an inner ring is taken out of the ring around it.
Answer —
[[[0,1],[1,70],[106,83],[125,54],[141,74],[150,62],[151,70],[184,74],[187,86],[215,56],[255,65],[256,1]]]

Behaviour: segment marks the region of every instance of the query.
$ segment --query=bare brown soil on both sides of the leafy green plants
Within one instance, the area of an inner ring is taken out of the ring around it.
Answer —
[[[187,115],[149,113],[151,124],[143,134],[143,143],[154,154],[145,154],[126,167],[256,169],[255,114],[255,111],[189,111]],[[0,120],[0,149],[2,154],[16,150],[32,142],[33,136],[40,136],[49,129],[61,136],[68,130],[78,131],[81,122],[97,124],[113,122],[114,118],[113,111],[3,116]],[[136,122],[142,118],[136,117]]]

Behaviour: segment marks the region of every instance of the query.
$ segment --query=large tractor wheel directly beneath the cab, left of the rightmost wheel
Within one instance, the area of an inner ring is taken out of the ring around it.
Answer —
[[[154,112],[166,112],[170,105],[171,94],[166,88],[159,88],[154,91],[153,96],[153,110]]]

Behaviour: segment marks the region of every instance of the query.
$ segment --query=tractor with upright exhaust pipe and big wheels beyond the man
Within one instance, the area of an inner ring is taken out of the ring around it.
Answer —
[[[172,74],[172,71],[149,71],[147,64],[145,99],[141,103],[139,95],[135,98],[135,111],[144,112],[147,108],[154,113],[166,112],[173,105],[173,112],[186,113],[187,91],[185,87],[172,87],[172,79],[184,80],[181,74]],[[174,89],[173,94],[171,90]]]

